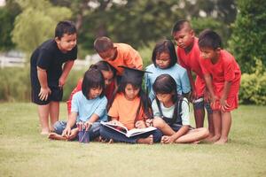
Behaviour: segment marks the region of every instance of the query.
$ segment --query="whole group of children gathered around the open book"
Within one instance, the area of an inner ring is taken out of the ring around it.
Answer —
[[[179,20],[172,35],[177,48],[170,40],[157,42],[153,64],[145,71],[137,50],[98,37],[94,49],[103,60],[91,65],[78,81],[66,102],[68,119],[59,121],[63,86],[77,58],[74,23],[60,21],[55,39],[43,42],[31,57],[32,100],[38,104],[41,134],[55,140],[75,140],[77,125],[82,122],[90,140],[147,144],[227,142],[231,111],[238,107],[239,65],[229,52],[222,50],[221,38],[212,30],[204,30],[197,38],[190,22]],[[189,102],[193,104],[196,128],[190,125]],[[204,107],[208,129],[203,127]],[[151,126],[156,129],[127,137],[102,126],[100,121],[112,121],[129,130]]]

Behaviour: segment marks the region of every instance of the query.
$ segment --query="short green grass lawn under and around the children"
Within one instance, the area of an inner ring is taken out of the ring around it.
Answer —
[[[1,103],[0,176],[266,176],[266,106],[240,106],[232,117],[223,146],[81,144],[39,135],[35,104]]]

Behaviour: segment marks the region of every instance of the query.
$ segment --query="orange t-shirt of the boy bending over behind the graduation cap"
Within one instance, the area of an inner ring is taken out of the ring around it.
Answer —
[[[119,65],[125,65],[131,68],[142,69],[143,61],[137,50],[134,50],[129,44],[126,43],[113,43],[117,48],[117,57],[113,61],[107,62],[117,70],[117,74],[121,75],[124,71]]]

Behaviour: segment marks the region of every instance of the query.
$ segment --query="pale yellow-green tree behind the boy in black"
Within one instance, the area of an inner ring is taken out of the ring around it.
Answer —
[[[15,19],[12,41],[27,54],[54,36],[59,20],[71,18],[66,7],[53,7],[45,0],[18,0],[22,12]]]

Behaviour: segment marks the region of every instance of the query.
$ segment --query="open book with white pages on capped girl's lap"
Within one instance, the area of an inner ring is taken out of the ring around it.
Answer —
[[[103,126],[112,128],[113,130],[120,132],[121,134],[126,135],[127,137],[145,134],[147,132],[151,132],[151,131],[156,129],[155,127],[145,127],[145,128],[134,128],[134,129],[128,130],[127,127],[124,127],[122,125],[113,124],[113,122],[101,121],[101,124]]]

